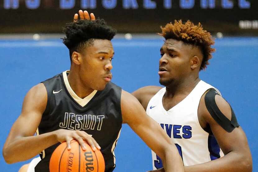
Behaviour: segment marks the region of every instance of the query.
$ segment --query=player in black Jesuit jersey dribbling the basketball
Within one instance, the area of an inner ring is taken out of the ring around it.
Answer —
[[[111,39],[116,31],[104,20],[81,20],[65,27],[63,43],[70,53],[70,71],[32,87],[21,115],[3,147],[7,163],[40,154],[35,172],[48,172],[49,160],[60,142],[85,140],[100,149],[105,172],[115,168],[114,148],[122,123],[127,123],[163,160],[168,172],[183,171],[181,157],[169,137],[146,115],[139,101],[110,80],[114,55]],[[37,136],[33,136],[34,133]],[[172,163],[173,162],[173,163]]]

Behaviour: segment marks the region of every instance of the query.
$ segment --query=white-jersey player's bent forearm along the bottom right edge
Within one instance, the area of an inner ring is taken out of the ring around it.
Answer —
[[[230,152],[222,158],[203,164],[184,167],[185,172],[251,172],[251,154],[246,152]]]

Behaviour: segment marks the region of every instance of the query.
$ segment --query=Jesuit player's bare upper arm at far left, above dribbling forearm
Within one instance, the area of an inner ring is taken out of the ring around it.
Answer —
[[[40,83],[32,87],[26,94],[21,114],[12,126],[6,144],[18,137],[33,136],[39,126],[46,105],[47,91],[44,84]]]

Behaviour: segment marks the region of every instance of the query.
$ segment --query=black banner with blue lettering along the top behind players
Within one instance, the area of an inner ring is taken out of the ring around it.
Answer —
[[[60,33],[79,9],[122,33],[160,32],[182,19],[210,32],[258,35],[257,0],[0,0],[0,33]]]

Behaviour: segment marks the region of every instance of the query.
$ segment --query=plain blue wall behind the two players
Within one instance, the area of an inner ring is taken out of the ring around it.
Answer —
[[[112,42],[114,83],[129,92],[142,86],[159,86],[157,72],[162,39],[114,39]],[[217,49],[214,58],[200,72],[200,78],[218,88],[233,107],[248,138],[253,171],[258,172],[258,38],[224,38],[216,40],[214,47]],[[16,172],[25,162],[7,165],[2,147],[21,112],[24,96],[40,81],[69,69],[70,59],[68,50],[57,39],[1,40],[0,54],[0,167],[1,171]],[[122,127],[115,154],[115,172],[144,172],[152,168],[150,149],[127,125]]]

